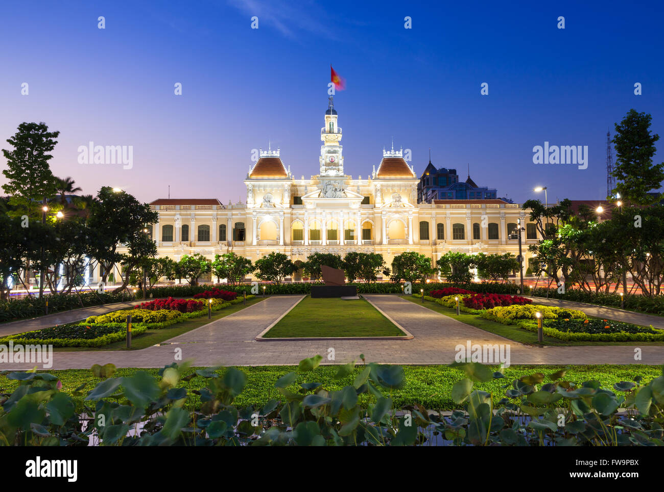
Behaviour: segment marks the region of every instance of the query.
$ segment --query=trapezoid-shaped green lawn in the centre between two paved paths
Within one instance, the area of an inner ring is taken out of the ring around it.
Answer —
[[[312,299],[306,296],[265,338],[404,336],[365,299]]]

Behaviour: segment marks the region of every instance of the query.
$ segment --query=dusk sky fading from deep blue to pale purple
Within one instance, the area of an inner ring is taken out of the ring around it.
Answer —
[[[607,129],[633,107],[664,137],[663,7],[556,4],[5,3],[0,148],[19,123],[44,121],[61,132],[54,173],[85,193],[110,184],[150,201],[170,184],[172,198],[244,201],[252,149],[268,140],[297,178],[317,174],[333,64],[347,81],[335,97],[347,174],[366,178],[394,137],[418,174],[431,147],[436,166],[465,178],[469,163],[515,202],[540,197],[535,186],[551,202],[604,198]],[[132,145],[133,168],[78,164],[89,141]],[[544,141],[587,145],[588,169],[533,164]]]

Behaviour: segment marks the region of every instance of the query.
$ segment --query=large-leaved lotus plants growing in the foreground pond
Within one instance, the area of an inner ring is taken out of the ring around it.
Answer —
[[[349,384],[339,391],[322,383],[299,383],[313,373],[317,355],[300,361],[295,371],[274,387],[279,399],[262,408],[234,404],[246,385],[234,367],[198,369],[177,363],[159,370],[161,380],[146,371],[113,377],[115,367],[94,365],[103,377],[86,396],[88,428],[72,397],[61,391],[58,377],[48,373],[13,372],[19,382],[12,393],[0,394],[0,439],[6,445],[71,446],[661,446],[664,420],[664,375],[642,383],[620,381],[612,389],[600,381],[574,383],[562,369],[533,373],[504,385],[505,397],[475,389],[476,382],[502,379],[501,371],[479,363],[454,363],[465,373],[452,387],[457,409],[450,415],[431,413],[415,403],[398,412],[394,389],[408,385],[402,367],[355,361],[340,365],[335,379]],[[192,391],[195,375],[207,386]],[[299,381],[298,381],[299,380]],[[504,381],[504,379],[503,379]],[[80,392],[83,387],[76,391]],[[612,391],[613,390],[613,391]],[[35,398],[39,393],[39,399]],[[385,393],[385,394],[384,394]],[[502,391],[501,391],[502,393]],[[200,399],[194,408],[190,399]],[[361,400],[368,400],[362,406]],[[625,411],[627,410],[627,414]],[[99,418],[104,415],[104,419]],[[254,417],[254,414],[256,417]],[[560,417],[564,425],[559,425]],[[92,417],[92,418],[91,418]],[[258,422],[252,422],[254,418]],[[406,418],[412,418],[412,424]],[[100,422],[103,422],[102,425]],[[135,422],[140,433],[129,434]],[[256,425],[256,423],[258,425]]]

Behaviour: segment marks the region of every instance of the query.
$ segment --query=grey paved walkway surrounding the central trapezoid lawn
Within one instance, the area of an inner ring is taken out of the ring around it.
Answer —
[[[631,345],[533,347],[501,338],[461,323],[418,303],[396,295],[367,295],[374,304],[400,323],[415,338],[410,340],[306,340],[256,341],[254,337],[290,309],[301,296],[274,296],[220,318],[167,343],[138,351],[56,352],[52,369],[72,369],[114,363],[118,367],[162,367],[191,360],[194,365],[288,365],[321,354],[323,363],[346,363],[365,359],[394,364],[448,364],[456,345],[505,344],[511,364],[630,364],[635,363]],[[343,316],[343,312],[340,313]],[[322,321],[322,320],[321,320]],[[327,360],[333,348],[335,359]],[[643,345],[638,363],[664,363],[664,345]],[[0,369],[28,369],[34,364],[3,364]]]

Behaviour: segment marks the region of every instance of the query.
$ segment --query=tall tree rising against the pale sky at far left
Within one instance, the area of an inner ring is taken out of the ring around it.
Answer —
[[[58,135],[59,131],[48,131],[46,123],[21,123],[17,133],[7,139],[13,149],[3,149],[7,159],[3,190],[16,208],[13,215],[39,217],[42,201],[54,195],[56,180],[48,161]]]

